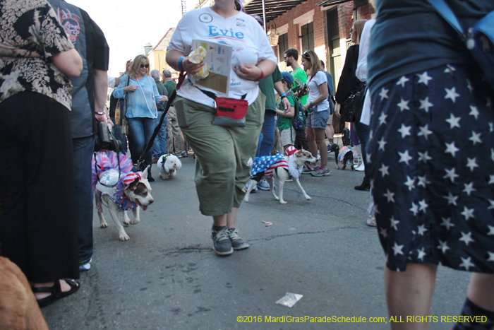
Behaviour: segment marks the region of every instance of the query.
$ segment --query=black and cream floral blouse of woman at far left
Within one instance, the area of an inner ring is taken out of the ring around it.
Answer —
[[[73,48],[46,0],[0,0],[0,102],[30,91],[71,109],[71,81],[49,57]]]

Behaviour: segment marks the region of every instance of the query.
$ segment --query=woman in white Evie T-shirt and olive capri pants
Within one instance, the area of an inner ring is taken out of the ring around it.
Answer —
[[[247,100],[245,127],[212,125],[215,101],[199,89],[205,88],[195,85],[193,78],[203,62],[193,64],[188,59],[193,40],[232,47],[227,97]],[[211,7],[186,13],[167,49],[167,63],[188,73],[174,106],[180,128],[195,153],[200,211],[213,218],[213,249],[219,255],[249,246],[239,237],[235,221],[245,195],[243,186],[251,176],[247,163],[255,157],[264,118],[265,96],[259,93],[258,81],[275,71],[276,62],[263,28],[243,13],[235,0],[216,0]]]

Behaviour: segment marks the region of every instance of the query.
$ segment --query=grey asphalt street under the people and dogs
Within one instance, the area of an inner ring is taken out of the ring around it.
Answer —
[[[303,175],[310,201],[294,183],[285,184],[286,205],[269,191],[251,194],[236,226],[251,247],[217,257],[212,219],[198,210],[194,160],[182,162],[167,181],[153,165],[155,203],[126,227],[131,240],[119,240],[107,209],[109,228],[94,213],[92,269],[81,273],[77,293],[42,310],[49,329],[390,329],[384,254],[377,230],[365,223],[368,192],[354,190],[363,172],[330,161],[329,177]],[[450,329],[441,317],[458,315],[468,280],[439,268],[438,322],[430,329]],[[286,293],[303,297],[291,308],[276,304]],[[310,319],[333,316],[356,318]],[[352,322],[363,317],[381,323]]]

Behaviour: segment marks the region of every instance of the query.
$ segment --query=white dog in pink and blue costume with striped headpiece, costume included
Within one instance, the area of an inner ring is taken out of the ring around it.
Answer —
[[[131,172],[132,167],[132,161],[126,155],[114,151],[100,151],[92,158],[92,190],[100,227],[108,227],[103,216],[104,205],[109,209],[123,241],[130,237],[119,221],[119,211],[123,211],[123,225],[136,225],[140,222],[139,208],[145,211],[154,201],[147,181],[147,167],[143,172]],[[132,220],[127,215],[129,209],[133,211]]]

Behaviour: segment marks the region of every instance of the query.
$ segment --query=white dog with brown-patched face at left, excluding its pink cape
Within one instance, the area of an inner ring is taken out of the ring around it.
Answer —
[[[147,181],[147,168],[143,172],[131,172],[121,177],[115,187],[107,187],[97,182],[95,189],[95,201],[100,227],[107,228],[108,223],[104,220],[102,205],[107,206],[110,215],[119,230],[119,238],[122,241],[129,240],[125,229],[119,220],[119,211],[123,211],[123,225],[137,225],[140,222],[139,208],[145,211],[147,206],[155,201],[151,196],[151,185]],[[127,210],[131,208],[134,218],[130,220]]]

